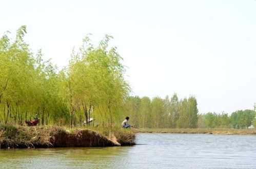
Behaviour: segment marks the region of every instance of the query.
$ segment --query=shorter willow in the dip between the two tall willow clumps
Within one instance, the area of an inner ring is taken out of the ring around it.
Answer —
[[[50,60],[43,60],[41,51],[36,56],[35,68],[34,87],[36,88],[37,115],[41,118],[43,125],[48,124],[50,120],[56,122],[65,113],[65,105],[58,95],[60,86],[57,68],[53,66]]]

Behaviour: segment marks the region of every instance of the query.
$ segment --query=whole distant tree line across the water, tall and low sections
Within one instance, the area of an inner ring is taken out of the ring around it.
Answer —
[[[130,96],[125,101],[124,112],[137,128],[233,128],[247,129],[255,125],[254,110],[240,110],[231,113],[198,114],[195,97],[178,99]]]

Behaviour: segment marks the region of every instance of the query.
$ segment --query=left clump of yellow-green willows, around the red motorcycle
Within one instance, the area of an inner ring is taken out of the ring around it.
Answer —
[[[56,68],[43,61],[39,52],[35,58],[25,43],[26,26],[16,32],[14,40],[6,34],[0,39],[0,112],[5,123],[24,123],[40,115],[48,124],[64,107],[58,97]]]

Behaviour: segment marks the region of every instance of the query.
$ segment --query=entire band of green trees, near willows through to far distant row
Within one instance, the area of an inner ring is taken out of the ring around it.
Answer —
[[[9,33],[9,32],[7,32]],[[129,96],[124,79],[125,67],[106,35],[99,45],[89,36],[69,65],[58,71],[41,50],[33,54],[25,43],[26,26],[0,38],[0,123],[24,124],[40,118],[40,125],[120,126],[126,116],[137,128],[248,128],[255,122],[255,111],[198,115],[196,98],[164,99]],[[7,126],[7,125],[6,125]],[[7,132],[14,129],[6,130]]]

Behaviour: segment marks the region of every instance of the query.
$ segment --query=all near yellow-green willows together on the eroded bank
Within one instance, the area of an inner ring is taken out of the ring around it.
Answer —
[[[0,122],[23,124],[38,116],[42,125],[82,125],[94,117],[112,125],[119,119],[130,88],[121,56],[108,48],[111,36],[97,47],[84,38],[58,72],[41,50],[32,54],[23,40],[26,32],[22,26],[13,41],[6,34],[0,39]]]

